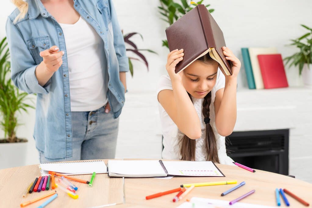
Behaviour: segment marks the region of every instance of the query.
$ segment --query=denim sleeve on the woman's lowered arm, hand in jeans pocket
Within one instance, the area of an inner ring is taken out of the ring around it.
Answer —
[[[114,48],[116,56],[119,62],[119,72],[129,71],[129,60],[126,55],[126,46],[124,44],[124,36],[122,35],[121,29],[119,27],[117,14],[113,1],[109,0],[110,5],[110,16],[114,33]]]

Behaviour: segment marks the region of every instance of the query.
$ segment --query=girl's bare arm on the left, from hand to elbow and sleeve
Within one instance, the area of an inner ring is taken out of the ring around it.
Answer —
[[[183,73],[175,74],[175,66],[182,60],[182,51],[172,51],[168,55],[166,65],[173,90],[162,90],[158,93],[158,101],[173,122],[188,138],[198,139],[202,135],[200,121],[195,107],[182,84]]]

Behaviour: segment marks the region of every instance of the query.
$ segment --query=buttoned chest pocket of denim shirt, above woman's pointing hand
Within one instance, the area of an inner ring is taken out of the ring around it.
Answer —
[[[50,48],[49,36],[34,37],[27,41],[27,46],[36,64],[40,64],[43,58],[39,55],[41,51]]]

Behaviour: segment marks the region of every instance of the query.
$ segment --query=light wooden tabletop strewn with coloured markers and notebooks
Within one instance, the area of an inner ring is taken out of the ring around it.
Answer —
[[[107,164],[107,160],[104,160],[104,162]],[[308,182],[271,172],[256,170],[255,173],[252,173],[236,166],[216,165],[226,177],[176,176],[172,179],[125,178],[123,182],[122,178],[109,178],[107,177],[107,174],[97,174],[92,188],[87,187],[86,184],[75,183],[78,186],[77,194],[79,194],[77,200],[71,199],[63,191],[57,191],[59,196],[46,207],[76,208],[100,206],[110,203],[121,203],[116,206],[111,206],[112,208],[176,207],[193,196],[231,201],[253,189],[255,189],[256,192],[240,202],[276,206],[275,188],[286,188],[289,191],[292,191],[305,201],[309,202],[311,207],[312,184]],[[22,198],[24,189],[29,185],[30,181],[34,180],[37,176],[40,176],[37,165],[0,170],[0,207],[19,207],[21,202],[31,200],[35,198],[35,196],[37,197],[46,194],[46,191],[41,191],[40,193],[29,194],[26,199]],[[75,177],[84,180],[90,179],[90,175],[80,175]],[[226,180],[237,180],[237,183],[245,181],[246,185],[226,196],[221,196],[221,193],[237,184],[195,187],[186,198],[176,203],[173,203],[172,199],[177,193],[150,200],[145,199],[145,196],[178,188],[183,183]],[[287,198],[290,202],[290,207],[306,207],[290,196]],[[27,207],[37,207],[43,201],[45,200],[43,199]],[[125,203],[122,204],[123,202]],[[282,199],[281,207],[286,207]]]

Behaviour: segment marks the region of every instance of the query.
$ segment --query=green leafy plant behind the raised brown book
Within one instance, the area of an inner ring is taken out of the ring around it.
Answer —
[[[173,22],[177,21],[184,14],[186,14],[187,12],[191,11],[191,9],[196,7],[197,4],[202,4],[203,0],[197,3],[191,2],[190,5],[187,3],[187,0],[181,0],[182,4],[176,3],[173,0],[159,0],[159,2],[160,2],[160,7],[158,7],[159,13],[165,17],[161,19],[169,23],[170,26],[173,24]],[[210,4],[207,4],[205,6],[209,7]],[[212,13],[214,9],[209,9],[208,11]],[[167,40],[163,40],[163,46],[169,48]]]

